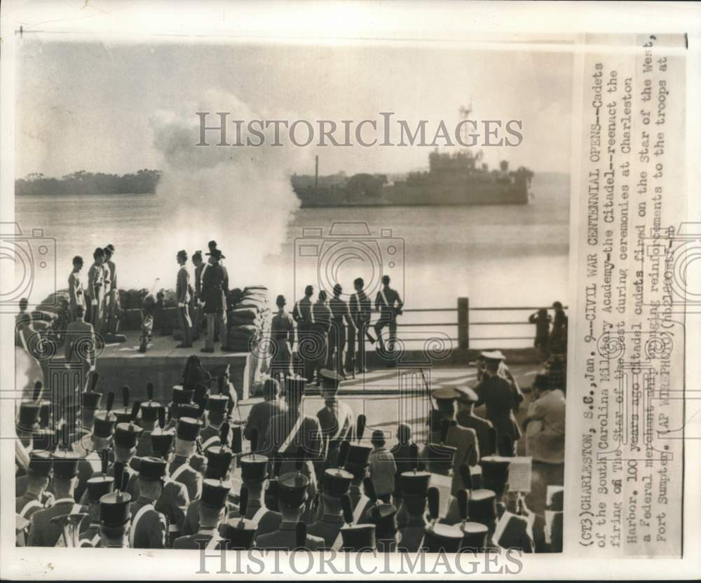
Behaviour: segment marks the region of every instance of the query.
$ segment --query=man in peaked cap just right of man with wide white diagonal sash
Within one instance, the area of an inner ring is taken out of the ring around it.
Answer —
[[[341,442],[353,432],[353,410],[338,398],[339,387],[344,380],[336,371],[321,369],[321,395],[324,406],[316,414],[322,431],[324,465],[336,467]],[[321,468],[320,468],[321,469]]]

